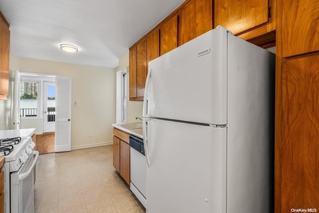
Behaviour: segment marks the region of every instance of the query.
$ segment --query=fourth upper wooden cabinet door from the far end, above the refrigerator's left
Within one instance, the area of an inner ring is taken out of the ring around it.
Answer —
[[[178,46],[178,12],[160,26],[160,55]]]

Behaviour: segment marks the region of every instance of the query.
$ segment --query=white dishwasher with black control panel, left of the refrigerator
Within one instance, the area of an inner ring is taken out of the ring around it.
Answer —
[[[143,139],[130,135],[130,189],[146,208],[147,163]]]

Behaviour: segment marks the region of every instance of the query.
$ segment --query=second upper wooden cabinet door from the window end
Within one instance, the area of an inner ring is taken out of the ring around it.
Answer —
[[[146,75],[146,39],[143,39],[137,44],[137,97],[144,96]]]

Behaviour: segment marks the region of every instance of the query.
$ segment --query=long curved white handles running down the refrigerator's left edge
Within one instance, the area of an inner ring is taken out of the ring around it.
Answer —
[[[150,157],[149,157],[149,150],[148,150],[148,136],[147,136],[147,129],[146,124],[147,121],[150,120],[150,115],[148,114],[148,98],[149,98],[149,85],[150,85],[150,79],[151,79],[151,71],[149,70],[148,75],[146,77],[145,82],[145,90],[144,90],[144,101],[143,101],[143,141],[144,141],[144,151],[146,156],[146,162],[148,164],[148,167],[151,166],[150,164]]]

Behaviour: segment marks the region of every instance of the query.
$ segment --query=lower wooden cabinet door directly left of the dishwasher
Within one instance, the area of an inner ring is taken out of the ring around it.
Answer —
[[[120,175],[130,185],[130,145],[120,141]]]

